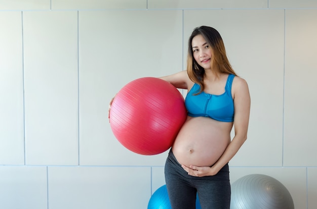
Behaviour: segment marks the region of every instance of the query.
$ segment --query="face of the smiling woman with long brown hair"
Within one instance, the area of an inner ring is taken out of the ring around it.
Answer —
[[[204,69],[211,69],[211,47],[202,35],[196,35],[191,41],[195,61]]]

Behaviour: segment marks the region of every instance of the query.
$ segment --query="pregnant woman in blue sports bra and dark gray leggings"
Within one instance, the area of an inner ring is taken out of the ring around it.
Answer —
[[[161,79],[188,90],[187,120],[165,164],[172,208],[194,209],[198,193],[203,209],[229,209],[228,162],[248,132],[247,82],[233,71],[219,32],[207,26],[195,28],[189,37],[187,70]]]

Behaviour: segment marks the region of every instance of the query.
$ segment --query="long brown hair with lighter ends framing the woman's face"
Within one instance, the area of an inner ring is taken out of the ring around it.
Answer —
[[[211,68],[215,71],[217,76],[220,73],[229,73],[236,76],[236,73],[232,69],[227,58],[224,43],[219,32],[216,29],[208,26],[200,26],[195,28],[188,39],[187,73],[190,80],[201,86],[201,90],[199,92],[201,93],[205,89],[203,82],[205,69],[201,67],[193,57],[191,42],[193,37],[196,35],[202,35],[210,45],[213,55],[211,59]]]

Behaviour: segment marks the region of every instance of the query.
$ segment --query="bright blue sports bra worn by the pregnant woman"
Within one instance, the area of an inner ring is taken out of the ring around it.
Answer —
[[[195,83],[185,98],[187,115],[191,117],[210,117],[222,122],[233,122],[234,106],[231,95],[233,78],[233,74],[228,75],[225,92],[220,95],[209,94],[204,91],[193,95],[200,91],[200,86]]]

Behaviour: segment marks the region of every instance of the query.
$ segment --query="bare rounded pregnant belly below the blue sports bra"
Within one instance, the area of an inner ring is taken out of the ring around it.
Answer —
[[[188,117],[172,147],[175,158],[185,166],[212,166],[230,143],[231,128],[232,123]]]

